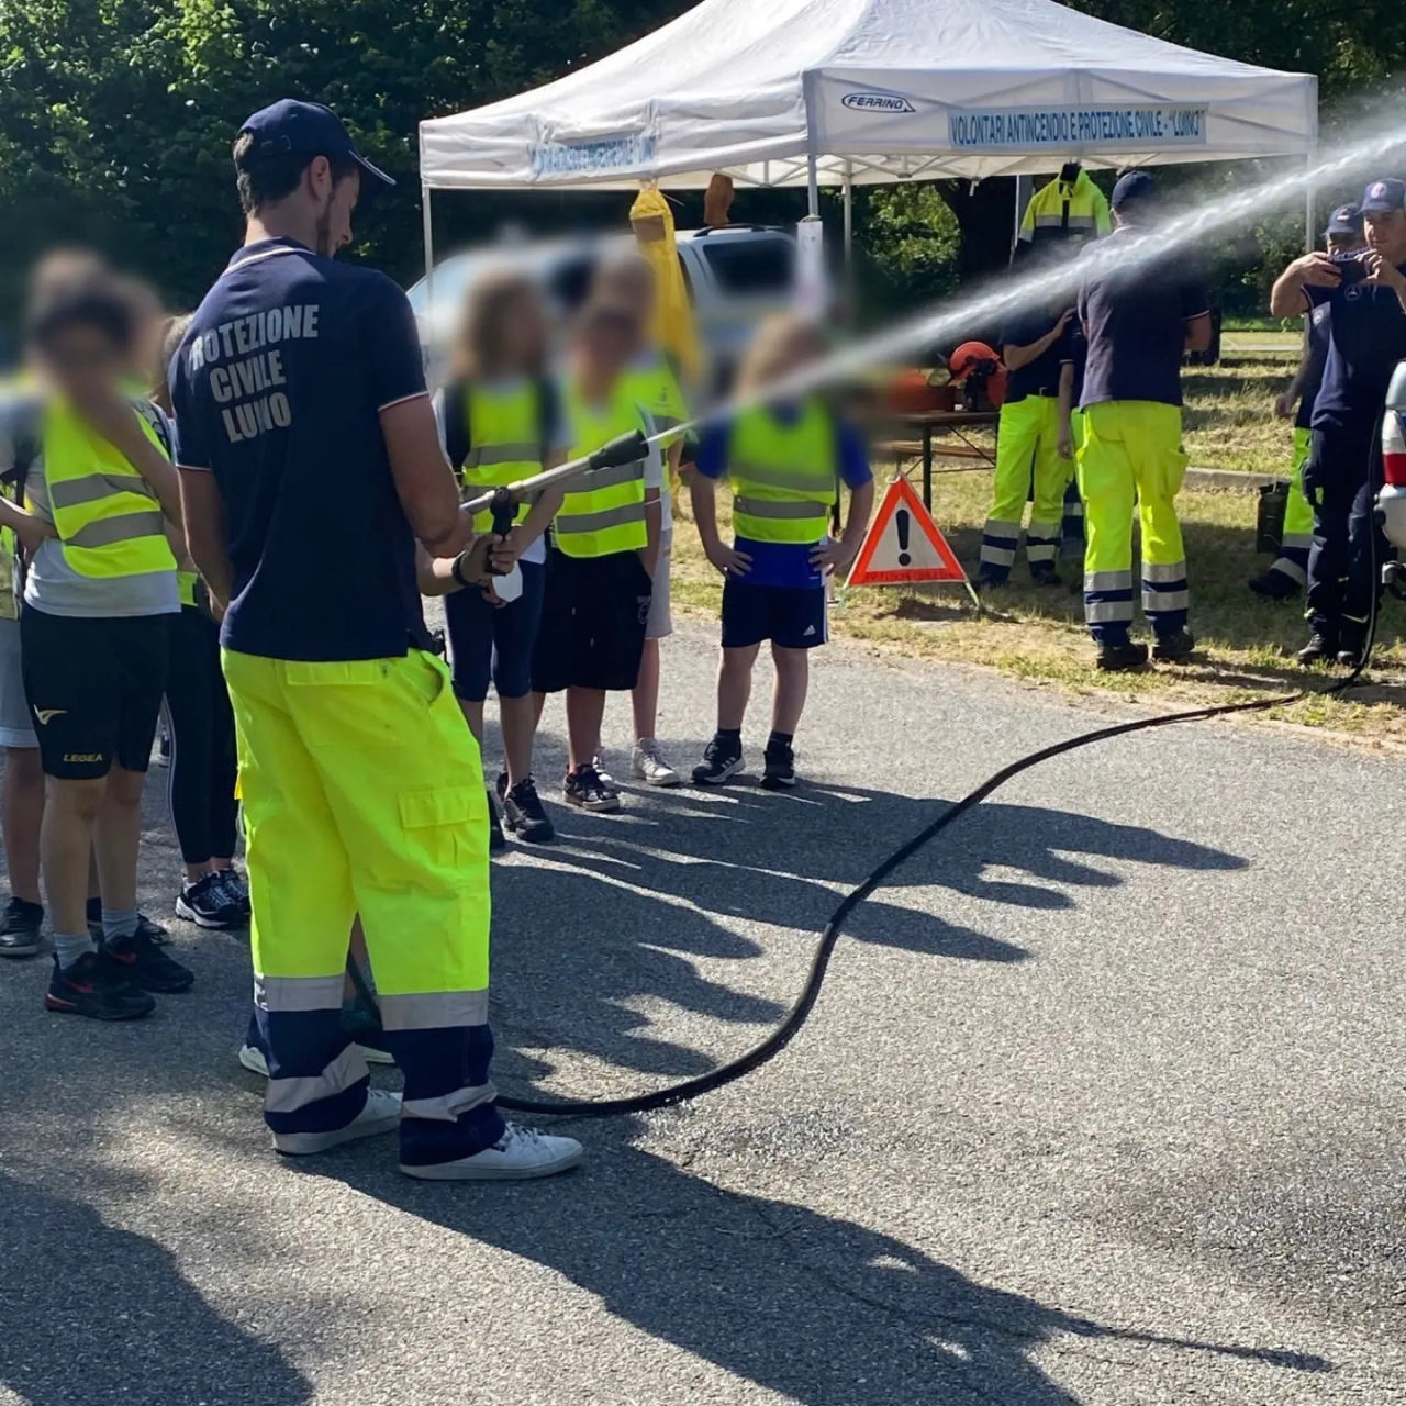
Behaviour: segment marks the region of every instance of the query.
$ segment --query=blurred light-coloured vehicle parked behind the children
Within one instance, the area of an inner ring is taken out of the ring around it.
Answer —
[[[756,323],[792,305],[796,239],[769,225],[685,229],[676,239],[709,382],[716,387],[731,374]],[[520,267],[533,274],[553,314],[565,318],[586,295],[600,259],[631,247],[633,235],[596,235],[486,245],[451,254],[434,269],[433,316],[426,280],[420,278],[408,291],[430,381],[439,380],[464,291],[485,269]]]

